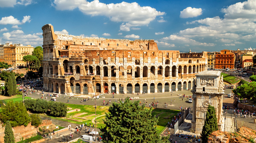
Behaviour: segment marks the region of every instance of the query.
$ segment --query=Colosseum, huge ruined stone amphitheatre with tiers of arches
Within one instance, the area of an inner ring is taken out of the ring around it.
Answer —
[[[158,50],[154,40],[54,34],[43,30],[44,88],[67,95],[189,90],[207,69],[207,53]]]

